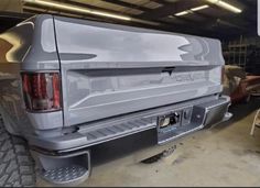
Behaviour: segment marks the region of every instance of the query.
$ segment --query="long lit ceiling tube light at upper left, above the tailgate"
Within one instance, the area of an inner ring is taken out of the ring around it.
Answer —
[[[63,10],[75,11],[75,12],[80,12],[80,13],[95,14],[95,15],[108,16],[112,19],[131,21],[130,16],[124,16],[124,15],[119,15],[119,14],[113,14],[113,13],[102,12],[102,11],[96,11],[93,9],[80,8],[80,7],[71,5],[66,3],[56,3],[56,2],[44,1],[44,0],[23,0],[23,1],[28,3],[45,5],[45,7],[55,8],[55,9],[63,9]]]

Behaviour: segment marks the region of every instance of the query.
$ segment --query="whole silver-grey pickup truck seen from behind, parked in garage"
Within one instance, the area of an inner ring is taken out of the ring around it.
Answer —
[[[89,177],[91,146],[227,120],[217,40],[35,15],[0,35],[0,185]],[[123,144],[123,143],[122,143]],[[104,151],[106,153],[106,151]]]

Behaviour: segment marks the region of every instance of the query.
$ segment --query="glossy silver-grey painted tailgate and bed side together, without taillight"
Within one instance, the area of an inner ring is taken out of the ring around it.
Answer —
[[[0,106],[25,134],[223,89],[221,46],[212,38],[37,15],[1,34],[0,49]],[[25,111],[21,71],[61,71],[63,111]]]

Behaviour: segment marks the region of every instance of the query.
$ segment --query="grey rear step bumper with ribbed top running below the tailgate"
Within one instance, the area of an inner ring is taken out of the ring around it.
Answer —
[[[158,111],[148,111],[147,113],[139,115],[128,115],[120,120],[98,123],[95,126],[82,126],[77,132],[62,136],[29,136],[28,139],[29,144],[40,151],[53,151],[58,153],[74,152],[142,131],[156,129],[159,115],[174,109],[192,107],[193,115],[191,118],[191,123],[185,126],[186,131],[174,132],[173,135],[167,135],[167,137],[160,137],[159,133],[159,144],[163,144],[206,126],[227,121],[230,118],[230,113],[227,112],[229,104],[229,97],[220,97],[214,100],[199,99],[174,104]]]

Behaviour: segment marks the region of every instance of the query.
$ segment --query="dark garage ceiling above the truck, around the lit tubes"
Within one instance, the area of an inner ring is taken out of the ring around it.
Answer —
[[[0,23],[11,25],[24,20],[31,14],[52,13],[66,16],[112,22],[119,24],[152,27],[172,32],[204,35],[218,38],[237,37],[238,35],[256,35],[257,33],[257,0],[223,0],[241,9],[241,13],[234,13],[210,0],[52,0],[58,4],[74,8],[89,9],[131,18],[131,21],[100,16],[55,5],[35,4],[23,0],[23,14],[0,12]],[[214,0],[212,0],[214,1]],[[206,9],[191,11],[193,8],[207,5]],[[177,16],[176,13],[189,10],[187,14]],[[6,16],[3,16],[6,13]],[[7,21],[4,21],[4,18]],[[9,18],[9,19],[7,19]],[[2,20],[1,20],[2,19]]]

